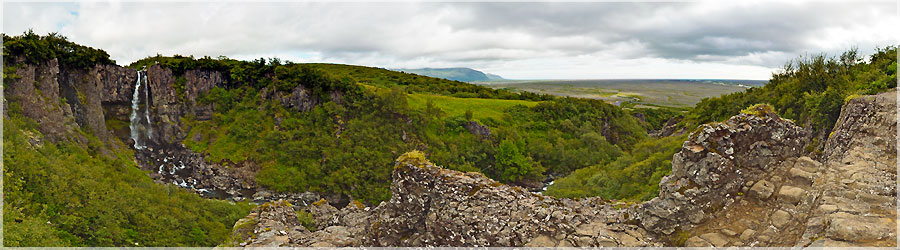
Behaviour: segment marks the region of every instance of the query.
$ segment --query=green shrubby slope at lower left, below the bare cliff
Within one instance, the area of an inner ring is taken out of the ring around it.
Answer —
[[[86,147],[33,146],[29,140],[41,137],[36,123],[10,116],[3,124],[5,246],[212,246],[250,209],[155,184],[130,152],[104,156],[90,136]]]

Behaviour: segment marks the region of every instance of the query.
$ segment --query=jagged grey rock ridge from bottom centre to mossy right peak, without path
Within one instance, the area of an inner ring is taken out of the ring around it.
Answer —
[[[765,178],[783,160],[796,157],[794,152],[805,144],[805,136],[803,129],[771,113],[742,114],[724,123],[704,125],[675,155],[673,174],[660,184],[660,196],[638,205],[610,203],[600,198],[571,200],[534,194],[479,173],[445,170],[424,159],[421,153],[407,153],[395,166],[390,200],[357,212],[318,209],[331,211],[327,213],[331,217],[320,222],[320,230],[325,233],[297,234],[299,238],[283,244],[337,247],[672,244],[675,238],[704,225],[716,218],[717,211],[732,205],[747,182]],[[354,214],[355,219],[344,220],[341,214]],[[338,237],[328,232],[349,232],[347,235],[351,236]],[[718,234],[704,237],[708,239],[692,241],[729,243]],[[340,243],[333,239],[340,239]]]

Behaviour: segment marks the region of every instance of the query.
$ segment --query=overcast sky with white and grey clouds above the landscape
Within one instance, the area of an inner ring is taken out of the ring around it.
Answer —
[[[896,2],[6,2],[3,32],[58,32],[120,65],[159,53],[511,79],[765,80],[800,55],[897,44],[897,13]]]

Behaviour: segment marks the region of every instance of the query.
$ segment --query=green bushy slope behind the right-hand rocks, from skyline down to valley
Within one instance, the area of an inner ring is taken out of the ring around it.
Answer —
[[[779,115],[797,119],[798,125],[814,131],[812,143],[805,150],[821,153],[845,100],[896,88],[896,68],[896,47],[880,49],[868,61],[858,58],[854,50],[839,58],[819,55],[797,59],[785,66],[784,72],[774,74],[763,87],[703,99],[688,112],[680,126],[693,128],[721,121],[751,105],[769,103]],[[678,149],[680,141],[677,138],[643,141],[613,162],[582,168],[557,180],[548,187],[547,194],[648,200],[656,195],[660,178],[669,173],[671,157],[668,156]]]

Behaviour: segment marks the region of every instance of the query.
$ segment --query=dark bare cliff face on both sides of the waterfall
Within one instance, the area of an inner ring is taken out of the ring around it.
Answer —
[[[113,129],[106,126],[106,120],[128,121],[137,70],[117,65],[66,68],[56,59],[40,65],[24,63],[21,58],[18,62],[22,65],[16,69],[19,78],[8,85],[7,98],[19,103],[22,113],[37,121],[48,139],[67,139],[74,134],[75,128],[91,132],[103,142],[109,142],[112,134],[119,135],[122,141],[129,139],[127,133],[111,133],[115,131],[110,131]],[[220,72],[188,70],[182,99],[178,97],[171,70],[154,65],[147,71],[151,85],[151,120],[154,128],[159,128],[154,130],[154,142],[179,143],[184,139],[180,118],[185,115],[208,117],[212,108],[198,104],[196,99],[213,87],[221,86],[224,78]]]

